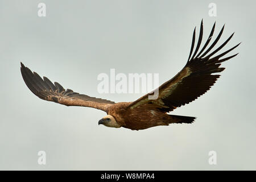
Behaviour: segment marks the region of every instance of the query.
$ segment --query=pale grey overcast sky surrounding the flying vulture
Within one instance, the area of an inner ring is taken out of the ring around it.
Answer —
[[[208,15],[211,2],[216,17]],[[98,93],[98,74],[159,73],[162,84],[185,65],[202,18],[203,42],[217,20],[214,37],[226,24],[220,43],[236,32],[225,50],[242,44],[207,94],[172,113],[197,117],[192,125],[98,126],[103,111],[40,100],[20,74],[22,61],[75,92],[134,101],[143,94]],[[255,23],[254,1],[0,0],[0,169],[255,170]],[[38,151],[46,151],[46,165]]]

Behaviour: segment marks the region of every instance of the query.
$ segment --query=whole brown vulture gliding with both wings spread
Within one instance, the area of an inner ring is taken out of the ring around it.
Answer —
[[[232,38],[233,34],[213,49],[221,38],[224,26],[217,38],[211,42],[215,24],[213,24],[208,39],[200,49],[203,39],[203,20],[200,26],[199,38],[195,46],[196,28],[193,31],[192,46],[188,61],[184,68],[171,80],[164,82],[158,89],[158,98],[151,100],[142,96],[134,102],[118,102],[95,98],[64,89],[58,82],[52,82],[47,77],[40,77],[38,73],[21,63],[20,71],[28,88],[39,98],[66,106],[93,107],[105,111],[108,115],[98,121],[108,127],[125,127],[131,130],[143,130],[154,126],[168,126],[170,123],[193,123],[195,117],[168,114],[170,111],[196,100],[203,95],[216,82],[225,68],[220,68],[222,62],[236,56],[223,57],[237,46],[228,51],[218,53]],[[195,46],[195,49],[194,49]],[[194,51],[195,50],[195,51]],[[210,52],[211,51],[211,52]],[[218,53],[218,55],[216,55]]]

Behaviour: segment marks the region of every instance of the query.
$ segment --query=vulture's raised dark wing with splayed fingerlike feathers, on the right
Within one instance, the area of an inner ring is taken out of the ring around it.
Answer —
[[[220,51],[233,36],[232,34],[223,44],[221,44],[220,47],[209,53],[220,39],[224,30],[223,26],[217,38],[205,51],[210,40],[212,39],[214,28],[215,23],[212,27],[209,38],[205,42],[203,48],[199,51],[201,41],[203,39],[202,20],[199,39],[194,53],[193,48],[195,45],[196,28],[193,32],[191,51],[189,53],[188,61],[185,67],[171,80],[168,80],[167,82],[159,86],[159,96],[156,100],[149,100],[148,95],[150,95],[150,93],[148,93],[145,96],[139,98],[138,100],[132,102],[129,105],[130,109],[144,104],[153,104],[158,107],[158,109],[168,112],[174,110],[176,107],[180,107],[181,105],[185,105],[189,102],[196,100],[197,97],[200,97],[205,92],[207,92],[207,90],[209,90],[210,87],[216,82],[217,78],[220,77],[220,75],[212,75],[212,73],[224,71],[225,68],[220,68],[221,63],[231,59],[237,54],[222,59],[221,57],[226,55],[226,53],[229,53],[239,45],[237,44],[237,46],[230,48],[228,51],[212,57],[215,53]]]

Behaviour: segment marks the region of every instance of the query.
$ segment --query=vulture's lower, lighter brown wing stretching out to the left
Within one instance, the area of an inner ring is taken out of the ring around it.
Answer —
[[[108,107],[114,104],[112,101],[73,92],[71,89],[66,90],[59,83],[54,82],[54,84],[52,84],[47,77],[43,77],[42,79],[38,73],[32,73],[30,69],[25,67],[22,63],[20,64],[20,71],[26,85],[31,92],[43,100],[66,106],[93,107],[106,112],[108,112]]]

